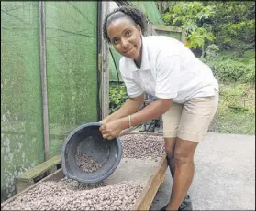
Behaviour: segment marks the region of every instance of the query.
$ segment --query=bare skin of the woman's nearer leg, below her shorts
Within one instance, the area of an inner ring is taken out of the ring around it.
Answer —
[[[192,183],[194,176],[194,153],[198,142],[177,138],[171,166],[173,167],[173,188],[166,210],[178,210]]]

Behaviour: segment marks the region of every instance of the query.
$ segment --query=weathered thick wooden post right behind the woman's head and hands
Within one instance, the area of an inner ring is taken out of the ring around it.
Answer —
[[[109,2],[102,1],[102,23],[109,12]],[[102,26],[101,26],[102,27]],[[102,33],[103,35],[103,33]],[[102,37],[102,119],[109,114],[109,45]]]

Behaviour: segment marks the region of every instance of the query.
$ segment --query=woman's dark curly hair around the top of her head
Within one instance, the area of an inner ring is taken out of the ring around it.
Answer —
[[[108,20],[108,18],[114,14],[116,14],[117,12],[122,13],[124,16],[116,16],[116,18],[113,18],[112,20]],[[144,35],[145,31],[146,31],[146,18],[144,16],[144,14],[139,11],[139,9],[137,9],[135,6],[129,6],[129,5],[124,5],[124,6],[120,6],[117,9],[115,9],[114,11],[112,11],[111,13],[107,14],[105,20],[104,20],[104,24],[103,24],[103,36],[106,39],[106,41],[108,43],[111,43],[111,40],[109,39],[108,35],[107,35],[107,26],[114,20],[116,20],[118,17],[129,17],[131,20],[133,20],[133,22],[137,25],[140,26],[141,28],[141,32],[142,35]]]

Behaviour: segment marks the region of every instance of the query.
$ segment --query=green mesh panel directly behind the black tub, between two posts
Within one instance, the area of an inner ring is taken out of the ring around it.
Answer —
[[[77,126],[97,121],[97,2],[46,2],[50,155]]]

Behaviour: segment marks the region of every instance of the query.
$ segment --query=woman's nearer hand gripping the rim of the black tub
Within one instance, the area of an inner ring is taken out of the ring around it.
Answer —
[[[103,124],[99,130],[104,139],[110,140],[116,138],[124,129],[121,119],[118,119]]]

